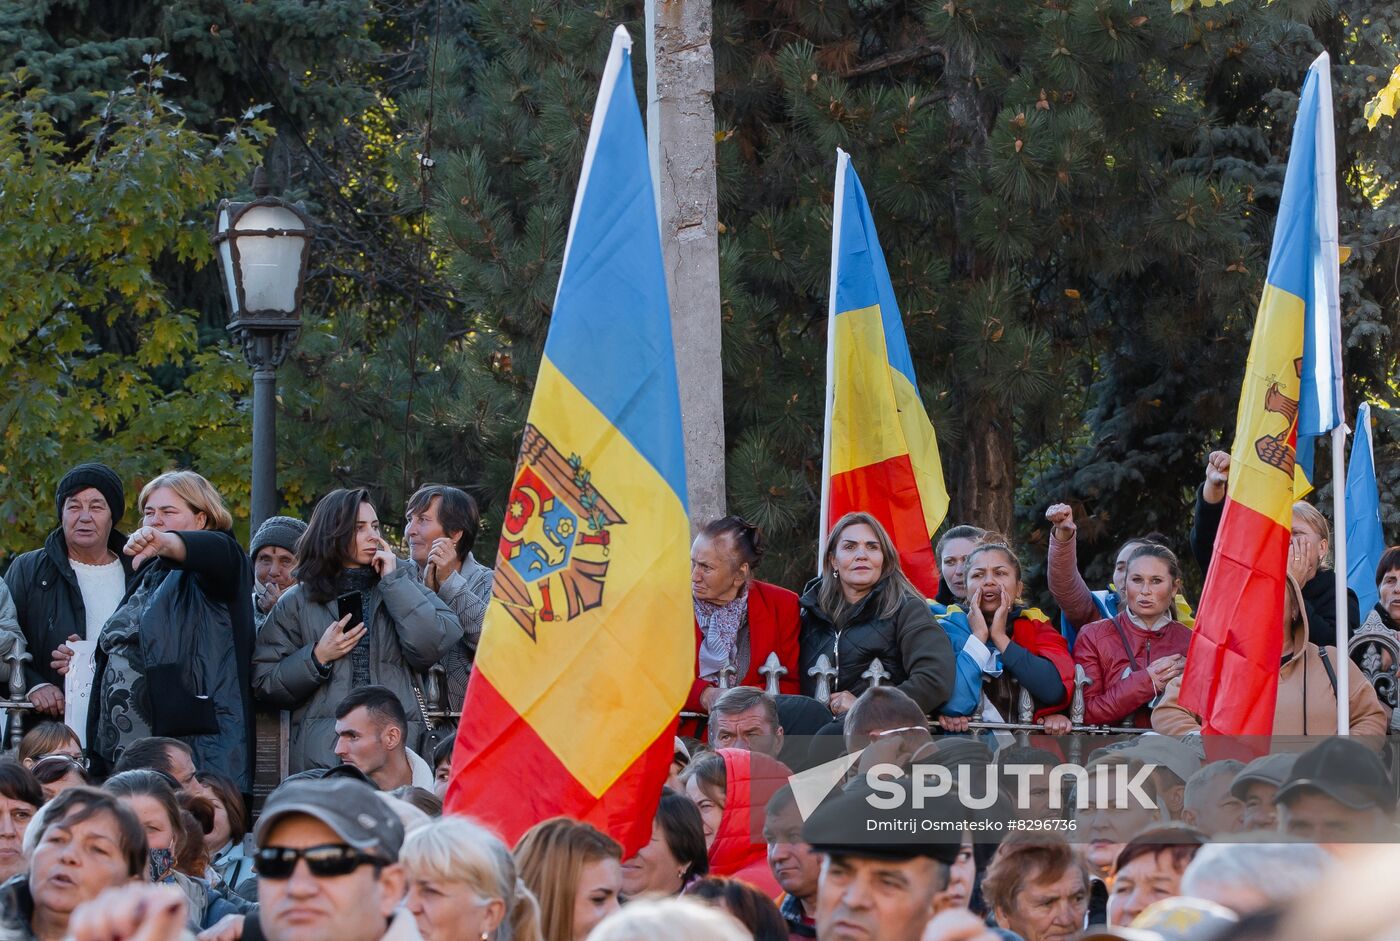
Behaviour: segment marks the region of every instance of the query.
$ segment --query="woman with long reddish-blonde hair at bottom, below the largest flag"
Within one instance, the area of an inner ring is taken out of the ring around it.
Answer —
[[[539,899],[543,941],[584,941],[619,907],[622,846],[588,823],[536,823],[515,844],[515,864]]]

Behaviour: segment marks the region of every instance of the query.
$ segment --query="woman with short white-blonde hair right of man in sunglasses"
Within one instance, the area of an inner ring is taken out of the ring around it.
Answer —
[[[399,863],[423,941],[540,941],[539,903],[490,830],[461,816],[424,823],[403,840]]]

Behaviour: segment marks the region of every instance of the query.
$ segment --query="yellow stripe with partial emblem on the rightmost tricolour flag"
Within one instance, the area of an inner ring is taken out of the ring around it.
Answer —
[[[1229,497],[1278,525],[1292,527],[1294,448],[1305,304],[1264,284],[1240,389]]]

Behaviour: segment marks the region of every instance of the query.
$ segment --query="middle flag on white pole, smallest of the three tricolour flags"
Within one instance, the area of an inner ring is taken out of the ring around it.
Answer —
[[[895,541],[904,574],[932,598],[938,566],[930,539],[948,514],[938,440],[918,398],[875,220],[850,154],[841,150],[836,151],[827,316],[818,552],[837,520],[869,513]]]

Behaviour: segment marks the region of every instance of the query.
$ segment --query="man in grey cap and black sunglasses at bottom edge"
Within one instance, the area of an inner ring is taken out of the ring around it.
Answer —
[[[403,825],[374,788],[346,777],[288,781],[253,828],[266,941],[420,941],[399,909]]]

